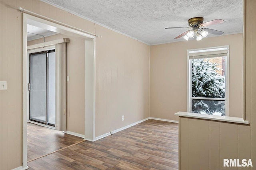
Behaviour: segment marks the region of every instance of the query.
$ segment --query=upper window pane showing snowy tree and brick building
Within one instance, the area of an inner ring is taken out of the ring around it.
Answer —
[[[226,57],[192,60],[192,96],[225,98]]]

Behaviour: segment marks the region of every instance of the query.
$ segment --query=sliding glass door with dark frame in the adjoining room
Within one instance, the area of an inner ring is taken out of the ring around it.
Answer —
[[[55,126],[55,50],[30,54],[29,119]]]

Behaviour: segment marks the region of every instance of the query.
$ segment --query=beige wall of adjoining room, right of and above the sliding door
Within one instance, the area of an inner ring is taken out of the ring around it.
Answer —
[[[67,35],[57,34],[45,37],[45,41],[69,38],[67,43],[67,131],[84,135],[84,40]],[[44,42],[43,39],[28,41],[28,45]]]

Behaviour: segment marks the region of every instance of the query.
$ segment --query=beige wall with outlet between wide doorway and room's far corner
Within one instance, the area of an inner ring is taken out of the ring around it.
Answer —
[[[149,117],[149,46],[96,25],[96,137]],[[124,115],[124,121],[121,121]]]

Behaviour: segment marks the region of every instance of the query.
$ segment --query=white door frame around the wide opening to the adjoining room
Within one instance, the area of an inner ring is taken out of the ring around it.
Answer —
[[[88,65],[90,62],[90,67],[85,69],[85,140],[94,141],[95,140],[95,91],[96,91],[96,37],[70,27],[66,27],[48,20],[44,20],[44,16],[35,14],[32,16],[23,13],[23,164],[22,168],[27,169],[27,122],[28,122],[28,110],[29,110],[29,91],[28,91],[28,80],[29,80],[29,57],[27,49],[27,24],[41,27],[43,29],[48,29],[55,31],[64,35],[69,35],[73,37],[80,37],[84,39],[85,42],[85,64]],[[50,19],[51,20],[51,19]],[[55,21],[55,20],[52,20]],[[56,21],[58,22],[58,21]],[[93,80],[93,82],[92,82]]]

